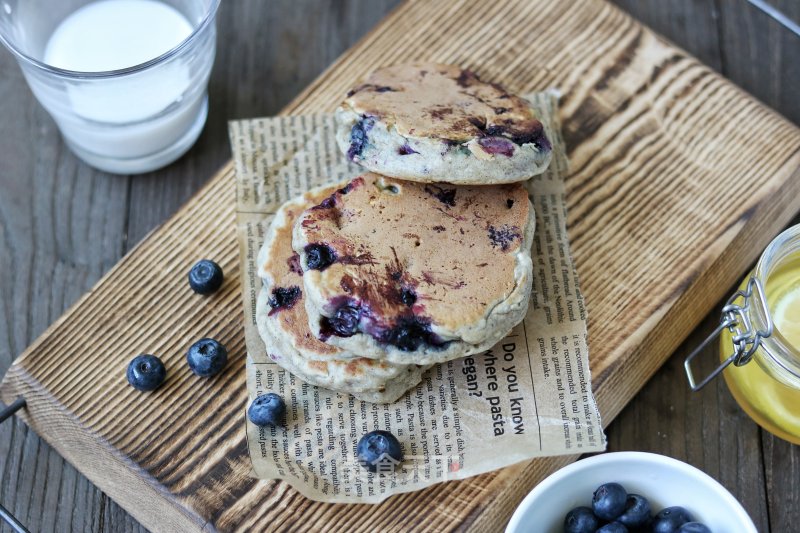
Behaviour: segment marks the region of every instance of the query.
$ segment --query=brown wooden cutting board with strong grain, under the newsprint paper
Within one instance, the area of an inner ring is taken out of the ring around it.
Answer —
[[[800,131],[601,0],[406,3],[284,112],[333,110],[366,72],[422,59],[519,92],[563,92],[569,234],[608,424],[800,210]],[[501,529],[568,458],[374,506],[321,504],[248,476],[232,173],[226,165],[28,348],[3,401],[24,397],[20,416],[152,530]],[[185,281],[201,257],[226,272],[206,299]],[[206,335],[233,357],[198,380],[183,353]],[[170,370],[153,394],[125,382],[140,352]]]

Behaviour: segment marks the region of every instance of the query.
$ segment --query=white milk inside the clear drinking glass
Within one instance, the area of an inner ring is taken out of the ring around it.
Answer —
[[[192,31],[186,17],[167,4],[100,0],[59,24],[43,59],[71,71],[119,70],[159,57]],[[204,63],[213,61],[211,46]],[[189,61],[196,59],[167,60],[114,77],[65,80],[61,90],[67,101],[32,88],[81,158],[112,172],[143,172],[180,156],[205,123],[210,63],[199,74]]]

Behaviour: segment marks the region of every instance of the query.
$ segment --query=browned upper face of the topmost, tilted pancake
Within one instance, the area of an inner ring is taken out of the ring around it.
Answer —
[[[491,135],[523,144],[543,136],[542,123],[525,100],[454,65],[379,69],[353,88],[344,103],[405,137],[464,142]]]

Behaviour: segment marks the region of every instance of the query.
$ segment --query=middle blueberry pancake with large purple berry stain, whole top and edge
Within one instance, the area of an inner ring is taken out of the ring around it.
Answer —
[[[395,364],[491,348],[527,311],[534,220],[521,184],[364,174],[294,226],[309,327]]]

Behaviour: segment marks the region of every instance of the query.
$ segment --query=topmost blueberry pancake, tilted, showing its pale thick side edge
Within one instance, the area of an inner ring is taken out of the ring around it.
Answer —
[[[511,183],[550,163],[550,142],[530,104],[453,65],[377,70],[347,93],[336,117],[348,158],[394,178]]]

